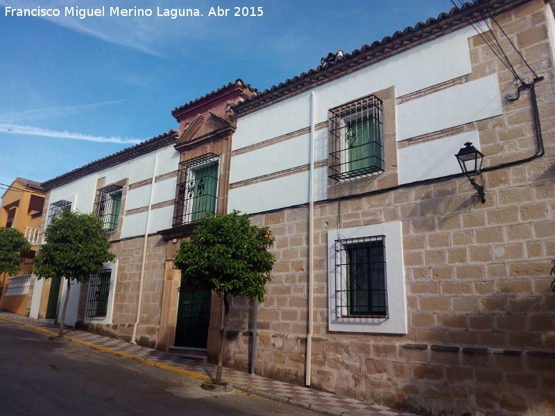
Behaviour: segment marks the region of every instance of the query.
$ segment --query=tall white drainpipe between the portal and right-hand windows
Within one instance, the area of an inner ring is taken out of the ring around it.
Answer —
[[[310,94],[310,175],[309,175],[309,249],[308,249],[308,335],[307,335],[307,374],[306,385],[310,385],[312,369],[312,332],[314,328],[314,117],[316,112],[316,94]]]

